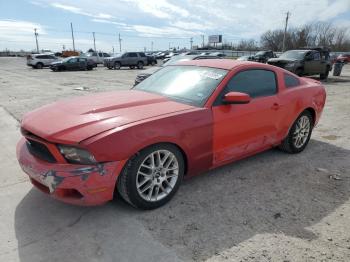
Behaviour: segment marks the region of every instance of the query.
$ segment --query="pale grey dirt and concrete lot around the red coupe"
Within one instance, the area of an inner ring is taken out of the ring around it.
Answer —
[[[350,66],[324,83],[327,104],[303,153],[270,150],[197,176],[160,209],[76,207],[33,189],[15,158],[23,113],[128,89],[138,72],[0,59],[0,261],[350,261]]]

